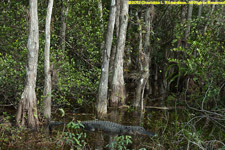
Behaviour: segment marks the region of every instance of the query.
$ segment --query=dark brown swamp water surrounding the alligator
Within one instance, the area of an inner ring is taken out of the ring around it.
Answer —
[[[15,112],[14,112],[15,113]],[[120,123],[123,125],[134,125],[143,126],[146,130],[156,133],[158,136],[150,138],[144,135],[134,135],[131,136],[132,144],[128,144],[128,149],[154,149],[155,144],[159,144],[159,138],[167,128],[174,128],[174,123],[171,120],[176,119],[174,111],[162,111],[162,110],[146,110],[145,113],[134,112],[131,109],[125,110],[110,110],[107,117],[104,120]],[[53,113],[54,121],[65,121],[77,122],[78,120],[95,120],[96,115],[92,113],[81,113],[81,112],[69,112],[65,110],[65,117],[61,117],[59,111]],[[161,133],[159,133],[159,130]],[[65,146],[60,141],[63,139],[63,131],[67,132],[63,126],[54,128],[52,134],[49,136],[45,134],[44,129],[39,132],[30,131],[24,129],[21,132],[15,131],[5,132],[4,134],[9,134],[9,142],[2,141],[0,143],[0,150],[3,149],[21,149],[21,150],[42,150],[42,149],[78,149],[76,147],[71,148],[70,146]],[[70,132],[74,132],[69,130]],[[80,133],[85,133],[86,138],[83,140],[86,142],[85,148],[81,149],[112,149],[107,146],[115,142],[115,136],[108,135],[101,132],[86,132],[83,130],[75,131]],[[169,140],[169,139],[168,139]],[[63,140],[62,140],[63,141]],[[1,142],[1,140],[0,140]],[[63,146],[62,146],[63,145]]]

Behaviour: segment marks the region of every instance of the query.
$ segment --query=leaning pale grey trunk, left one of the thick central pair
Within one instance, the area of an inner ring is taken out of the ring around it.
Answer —
[[[102,61],[101,79],[98,89],[97,112],[99,115],[104,115],[107,113],[109,58],[112,47],[115,17],[116,17],[116,2],[115,0],[111,0],[111,11],[109,15],[108,30],[106,35],[104,56]]]

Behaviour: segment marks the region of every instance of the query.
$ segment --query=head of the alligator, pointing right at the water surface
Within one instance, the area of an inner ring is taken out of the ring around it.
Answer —
[[[125,129],[126,134],[140,134],[140,135],[147,135],[149,137],[155,136],[154,133],[145,130],[145,128],[140,126],[126,126]]]

